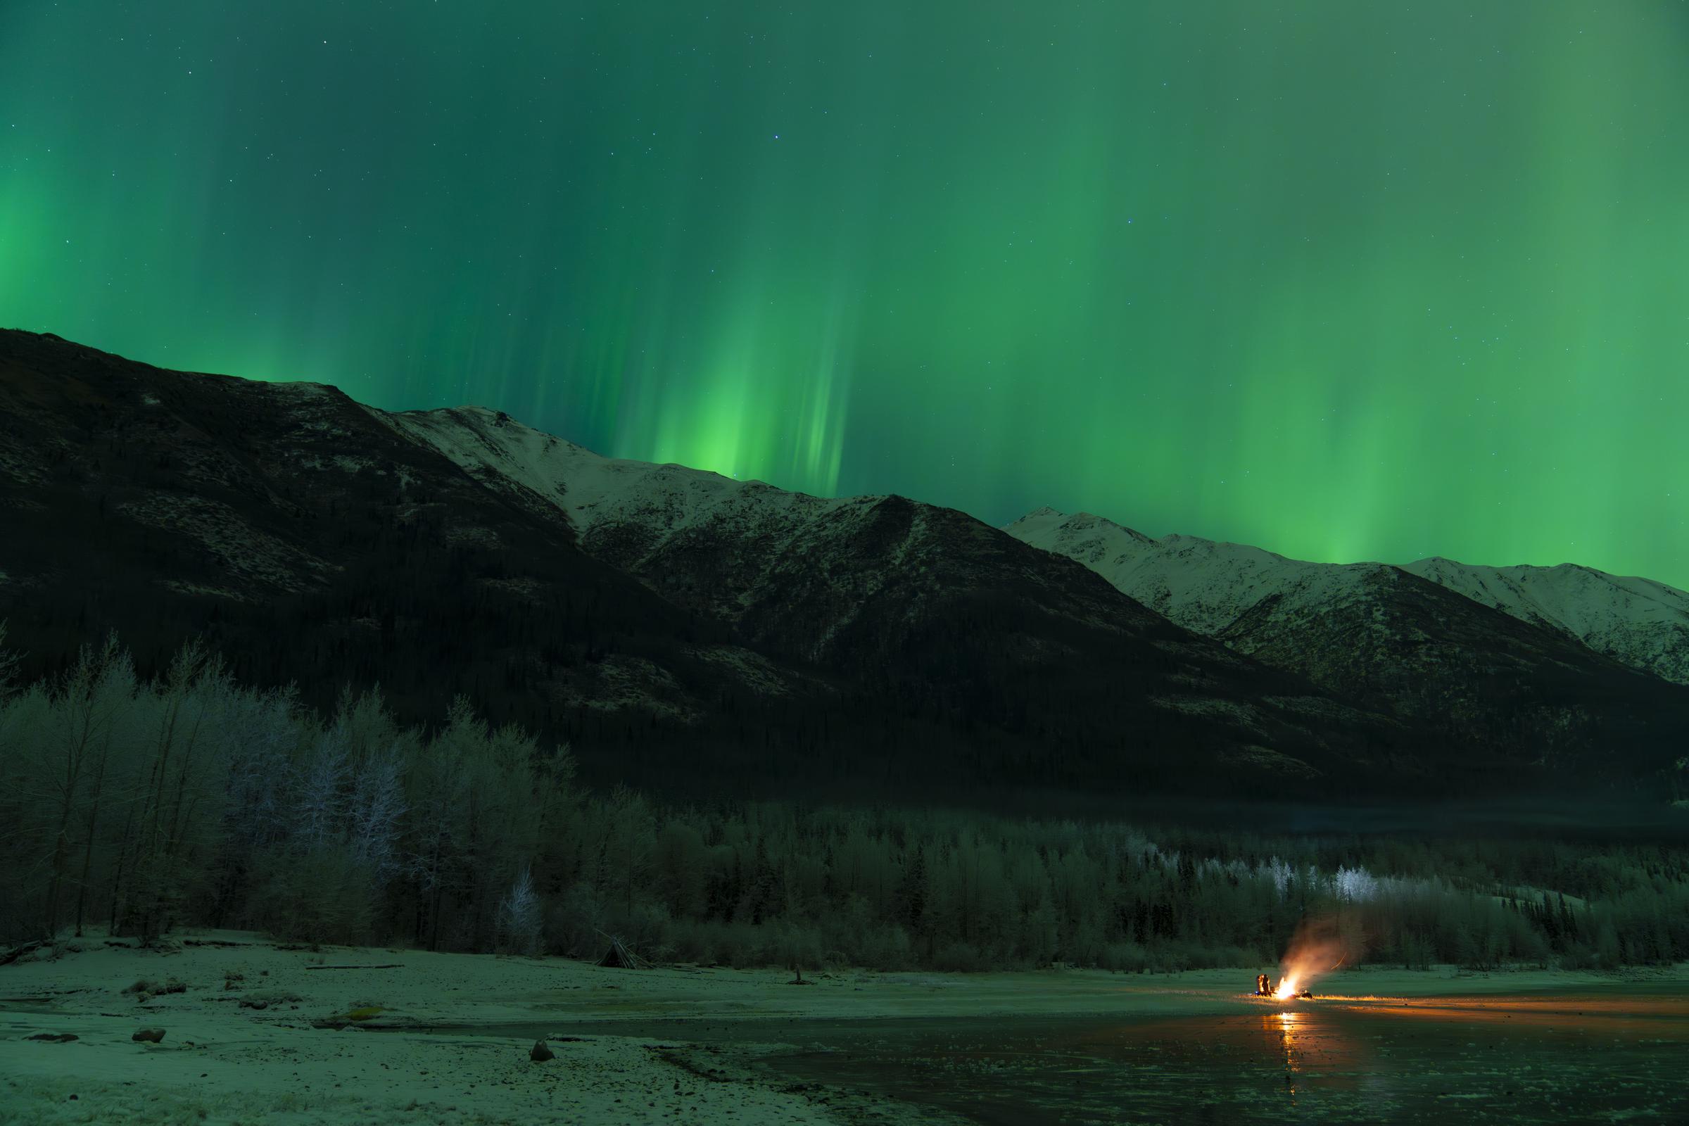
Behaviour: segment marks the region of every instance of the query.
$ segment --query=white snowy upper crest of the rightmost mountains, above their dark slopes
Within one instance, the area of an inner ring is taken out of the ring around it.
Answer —
[[[1223,636],[1272,598],[1280,613],[1321,613],[1366,579],[1400,571],[1481,606],[1572,638],[1596,653],[1689,684],[1689,594],[1589,567],[1478,567],[1447,559],[1316,564],[1192,535],[1154,539],[1091,513],[1040,508],[1010,523],[1022,542],[1067,555],[1174,621]]]

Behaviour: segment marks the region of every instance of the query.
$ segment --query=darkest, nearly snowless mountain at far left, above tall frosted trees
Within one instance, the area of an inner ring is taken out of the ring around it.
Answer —
[[[745,690],[728,631],[334,388],[184,375],[0,336],[0,614],[34,670],[117,630],[157,669],[191,635],[242,679],[409,719],[622,741]],[[787,674],[770,674],[775,680]]]

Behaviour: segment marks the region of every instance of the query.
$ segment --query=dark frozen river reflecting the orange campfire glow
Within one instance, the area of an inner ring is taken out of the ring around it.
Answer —
[[[789,1028],[802,1082],[986,1124],[1689,1121],[1689,989]]]

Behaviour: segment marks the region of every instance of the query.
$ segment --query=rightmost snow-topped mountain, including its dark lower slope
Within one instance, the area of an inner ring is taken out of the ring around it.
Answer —
[[[1463,746],[1471,763],[1647,773],[1689,746],[1684,685],[1402,567],[1302,562],[1191,535],[1150,539],[1051,510],[1008,532],[1084,562],[1240,653]]]

